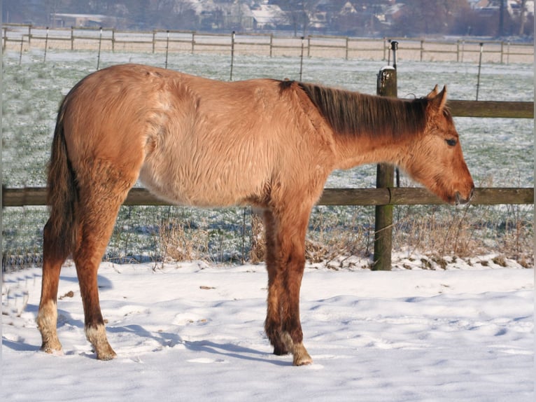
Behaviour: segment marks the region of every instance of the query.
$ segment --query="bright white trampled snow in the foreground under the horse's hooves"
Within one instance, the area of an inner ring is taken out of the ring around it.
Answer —
[[[0,397],[533,401],[534,270],[512,261],[471,265],[458,259],[446,270],[391,272],[309,265],[301,312],[313,364],[303,367],[271,354],[263,265],[102,263],[113,361],[97,361],[85,340],[72,263],[59,284],[58,355],[38,350],[41,270],[8,273]]]

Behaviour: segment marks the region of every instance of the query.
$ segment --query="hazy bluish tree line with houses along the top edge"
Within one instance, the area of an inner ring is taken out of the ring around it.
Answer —
[[[246,31],[240,18],[244,6],[255,9],[260,0],[6,0],[3,22],[52,26],[56,13],[88,13],[111,17],[120,29],[193,29]],[[473,9],[467,0],[270,0],[285,13],[284,24],[297,36],[326,33],[348,36],[533,36],[534,15],[507,12],[505,0],[492,8]],[[349,6],[348,6],[349,5]],[[206,7],[206,9],[204,9]],[[236,15],[235,15],[236,17]],[[110,22],[111,23],[111,22]],[[253,28],[255,29],[255,28]]]

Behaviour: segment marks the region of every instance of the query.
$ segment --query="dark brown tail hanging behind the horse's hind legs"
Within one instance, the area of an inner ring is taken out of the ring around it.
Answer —
[[[64,132],[64,116],[69,95],[65,97],[56,120],[52,153],[48,164],[47,205],[50,208],[50,219],[47,232],[57,253],[66,258],[78,244],[78,186],[67,154]]]

